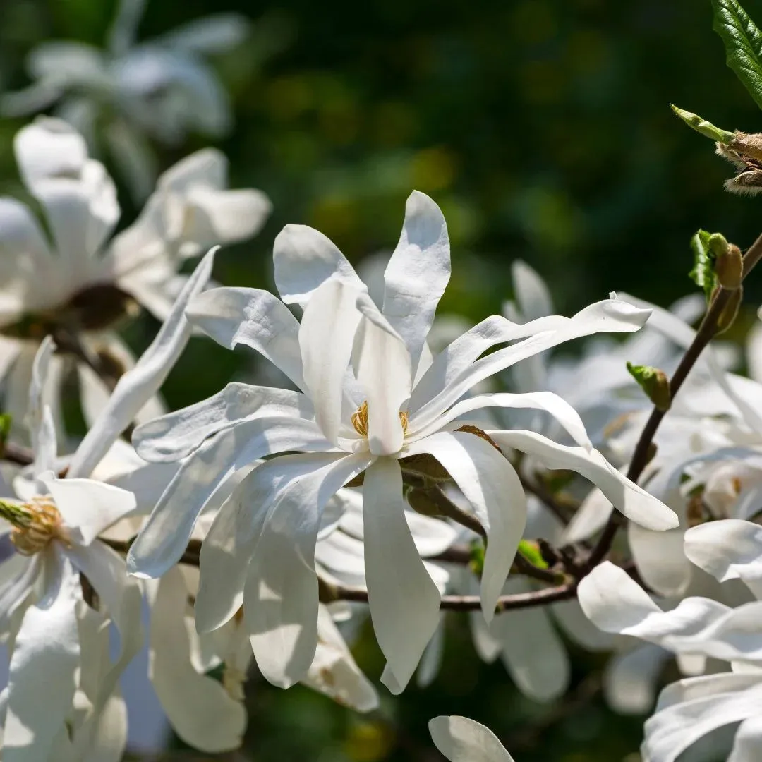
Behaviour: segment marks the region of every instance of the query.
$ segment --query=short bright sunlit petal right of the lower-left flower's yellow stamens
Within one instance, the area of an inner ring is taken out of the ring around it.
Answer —
[[[135,495],[132,492],[92,479],[42,480],[67,527],[79,530],[79,541],[89,545],[111,524],[134,511]]]

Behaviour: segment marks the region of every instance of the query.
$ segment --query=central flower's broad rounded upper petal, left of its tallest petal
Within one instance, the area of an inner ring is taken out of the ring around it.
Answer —
[[[306,307],[312,294],[331,277],[365,290],[354,267],[322,232],[305,225],[287,225],[273,248],[275,285],[287,304]]]

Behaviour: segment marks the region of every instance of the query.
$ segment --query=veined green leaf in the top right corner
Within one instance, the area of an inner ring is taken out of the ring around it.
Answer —
[[[725,62],[762,108],[762,32],[738,0],[712,0],[712,28],[725,43]]]

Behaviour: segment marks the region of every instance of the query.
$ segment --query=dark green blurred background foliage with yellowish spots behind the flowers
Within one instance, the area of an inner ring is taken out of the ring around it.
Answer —
[[[762,20],[762,0],[744,5]],[[285,223],[319,228],[356,264],[393,248],[412,188],[440,203],[450,228],[453,280],[440,309],[472,321],[511,296],[517,258],[548,280],[566,314],[610,290],[667,305],[692,288],[696,229],[742,248],[759,232],[760,200],[722,191],[730,166],[668,108],[674,101],[726,129],[762,127],[725,67],[709,0],[149,0],[140,37],[217,11],[239,11],[252,27],[213,59],[235,109],[216,145],[232,187],[261,188],[274,203],[255,240],[218,258],[224,283],[271,287],[272,242]],[[40,41],[101,46],[113,14],[113,0],[0,0],[0,90],[28,84],[24,58]],[[19,190],[11,140],[22,123],[0,120],[2,193]],[[159,163],[208,144],[191,136],[160,149]],[[120,200],[126,224],[137,209],[128,194]],[[762,288],[748,294],[757,304]],[[127,338],[140,348],[153,331],[146,318]],[[245,354],[198,339],[169,379],[168,401],[195,402],[255,372]],[[638,758],[627,755],[642,718],[600,702],[600,658],[578,653],[570,696],[540,706],[501,664],[479,663],[463,618],[450,629],[434,685],[385,696],[370,718],[255,678],[246,748],[226,758],[434,762],[426,722],[439,713],[485,722],[523,762]],[[378,677],[371,636],[357,658]]]

